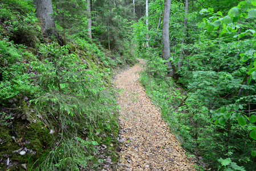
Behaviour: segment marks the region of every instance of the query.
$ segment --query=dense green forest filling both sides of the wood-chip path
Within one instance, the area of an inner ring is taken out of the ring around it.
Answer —
[[[141,84],[196,168],[255,170],[255,6],[1,0],[0,169],[119,160],[112,71],[145,58]]]

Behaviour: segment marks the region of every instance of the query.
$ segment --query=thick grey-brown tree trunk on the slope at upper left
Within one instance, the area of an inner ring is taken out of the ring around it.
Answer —
[[[34,2],[36,3],[36,17],[42,22],[43,34],[57,36],[55,22],[51,16],[53,14],[51,0],[36,0]]]

